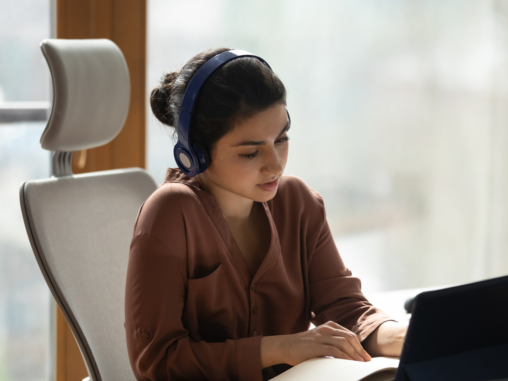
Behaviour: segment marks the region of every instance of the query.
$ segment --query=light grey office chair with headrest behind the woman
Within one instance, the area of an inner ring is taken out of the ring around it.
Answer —
[[[53,107],[41,137],[51,178],[23,182],[26,232],[92,381],[135,380],[124,331],[125,276],[136,214],[155,190],[140,168],[73,175],[72,151],[104,145],[125,122],[129,71],[109,40],[44,40]]]

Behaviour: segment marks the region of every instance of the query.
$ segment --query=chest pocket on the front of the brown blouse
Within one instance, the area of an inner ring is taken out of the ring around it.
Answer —
[[[195,341],[223,342],[231,338],[234,313],[223,263],[204,278],[188,279],[185,308]]]

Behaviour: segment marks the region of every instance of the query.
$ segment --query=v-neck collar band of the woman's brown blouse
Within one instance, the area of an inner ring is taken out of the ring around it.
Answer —
[[[203,206],[205,207],[207,214],[210,216],[213,225],[217,229],[220,237],[223,239],[224,244],[226,245],[233,263],[235,264],[246,288],[250,288],[252,282],[261,281],[263,278],[265,278],[265,276],[269,273],[275,264],[277,254],[280,252],[277,229],[273,221],[272,213],[268,208],[266,202],[263,202],[262,205],[268,218],[268,223],[270,224],[270,247],[268,248],[268,252],[266,253],[266,256],[263,259],[263,262],[261,263],[258,271],[256,274],[252,274],[213,195],[207,190],[203,189],[200,182],[195,177],[190,178],[185,176],[177,168],[168,168],[166,172],[165,182],[179,182],[194,188],[194,192],[203,203]]]

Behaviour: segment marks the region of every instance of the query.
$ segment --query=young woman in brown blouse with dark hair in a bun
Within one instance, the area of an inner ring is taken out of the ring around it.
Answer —
[[[176,129],[190,80],[228,50],[167,74],[151,94],[155,116]],[[261,380],[315,357],[400,355],[406,327],[361,293],[321,196],[282,175],[285,95],[252,56],[228,61],[201,87],[190,141],[209,156],[207,169],[187,177],[169,168],[134,227],[125,329],[137,379]]]

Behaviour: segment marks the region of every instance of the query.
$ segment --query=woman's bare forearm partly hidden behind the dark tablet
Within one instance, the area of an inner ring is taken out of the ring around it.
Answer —
[[[382,323],[363,340],[362,345],[373,357],[400,357],[406,337],[407,325],[388,321]]]

